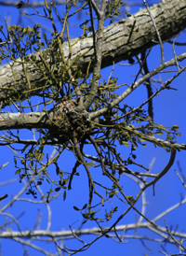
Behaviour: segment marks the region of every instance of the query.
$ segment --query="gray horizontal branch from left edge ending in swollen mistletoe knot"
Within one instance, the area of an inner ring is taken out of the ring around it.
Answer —
[[[85,110],[78,112],[75,100],[61,100],[48,111],[30,113],[6,113],[0,115],[0,131],[12,129],[45,128],[47,136],[53,142],[62,144],[73,139],[73,131],[81,136],[77,123],[86,125],[88,114]]]

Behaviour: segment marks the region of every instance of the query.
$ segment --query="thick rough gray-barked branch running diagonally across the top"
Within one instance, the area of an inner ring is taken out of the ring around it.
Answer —
[[[185,0],[162,1],[162,3],[151,7],[151,12],[163,41],[176,36],[186,27]],[[72,39],[71,42],[73,43],[76,39]],[[153,27],[153,21],[146,9],[140,9],[138,13],[126,20],[116,22],[105,28],[101,68],[113,64],[113,61],[118,63],[122,60],[128,60],[157,43],[158,39]],[[62,48],[67,58],[69,54],[68,42],[63,43]],[[84,72],[86,72],[89,61],[94,58],[92,34],[82,38],[73,46],[72,61],[77,53],[82,54],[88,49],[90,50],[76,62],[76,64],[82,66]],[[38,82],[42,85],[42,75],[40,73],[33,73],[32,64],[27,64],[27,66],[28,78],[30,79],[32,89],[35,88],[35,84]],[[28,89],[27,81],[22,72],[22,64],[15,63],[13,71],[14,75],[12,74],[10,64],[1,67],[0,101],[5,101],[9,98],[9,94],[7,94],[8,88],[14,88],[16,89],[15,92],[19,93]],[[13,95],[13,92],[11,92],[11,95]]]

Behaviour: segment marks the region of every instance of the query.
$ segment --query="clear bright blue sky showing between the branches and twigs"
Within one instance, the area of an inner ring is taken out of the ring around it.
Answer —
[[[30,1],[32,3],[32,1]],[[139,1],[140,2],[140,1]],[[142,1],[141,1],[142,2]],[[139,7],[130,9],[131,13],[134,13],[138,11]],[[43,11],[42,8],[38,8],[39,11]],[[25,10],[24,10],[25,11]],[[28,10],[30,12],[30,9]],[[60,13],[62,14],[62,9],[60,9]],[[1,7],[0,8],[0,22],[5,26],[4,17],[5,14],[7,14],[7,22],[8,25],[10,24],[18,24],[20,22],[19,20],[19,13],[20,10],[16,7]],[[32,13],[32,11],[30,12]],[[82,19],[85,18],[85,13],[82,16]],[[39,21],[42,23],[42,26],[49,27],[49,22],[46,20],[39,20],[35,19],[34,16],[31,16],[31,18],[34,21]],[[73,20],[72,19],[72,30],[71,30],[71,36],[79,36],[79,23],[80,20]],[[32,23],[28,21],[27,19],[22,20],[23,26],[32,26]],[[59,25],[60,27],[60,25]],[[184,42],[185,41],[185,33],[182,33],[179,36],[179,41]],[[185,47],[175,47],[176,53],[180,54],[185,51]],[[172,46],[168,43],[164,44],[164,50],[165,50],[165,59],[166,61],[173,58],[173,51]],[[156,66],[160,64],[160,47],[156,46],[153,48],[152,52],[150,53],[149,60],[148,60],[148,66],[149,70],[153,70]],[[122,62],[122,64],[127,62]],[[186,64],[186,62],[183,62],[182,65]],[[112,66],[108,68],[104,68],[101,71],[102,78],[107,79],[111,73]],[[133,81],[132,75],[136,74],[139,70],[138,65],[134,66],[122,66],[119,64],[115,64],[113,77],[118,77],[118,84],[120,83],[128,83],[131,84]],[[167,78],[170,78],[170,74],[161,74],[162,80],[166,81]],[[155,78],[159,78],[159,76],[156,76]],[[186,95],[186,87],[185,87],[185,79],[186,75],[181,74],[179,78],[173,81],[171,84],[171,87],[177,88],[178,91],[164,91],[161,92],[160,95],[155,97],[153,99],[153,107],[154,107],[154,121],[158,122],[159,124],[163,124],[164,126],[172,126],[174,124],[179,125],[179,132],[181,133],[181,137],[178,137],[178,143],[185,143],[186,142],[186,135],[185,135],[185,125],[186,125],[186,115],[185,115],[185,109],[186,109],[186,101],[185,101],[185,95]],[[124,87],[121,88],[120,92],[123,92],[125,90]],[[153,92],[155,90],[153,89]],[[124,101],[127,105],[130,107],[138,107],[140,104],[147,98],[147,92],[145,86],[141,85],[140,88],[138,88],[136,91],[132,92]],[[123,103],[122,103],[123,104]],[[146,109],[146,108],[145,108]],[[39,109],[41,110],[41,109]],[[25,131],[22,134],[23,136],[27,136],[28,133]],[[52,149],[48,149],[51,151]],[[88,151],[89,149],[87,149]],[[127,149],[124,154],[127,153]],[[11,179],[11,178],[17,178],[15,175],[16,169],[14,168],[14,162],[13,162],[13,155],[15,155],[15,152],[12,152],[7,147],[1,147],[1,160],[0,165],[9,163],[5,168],[1,169],[1,178],[0,178],[0,184],[1,182]],[[91,151],[92,152],[92,151]],[[88,153],[90,153],[88,151]],[[93,152],[94,153],[94,152]],[[153,158],[155,159],[155,162],[153,164],[152,172],[156,173],[159,172],[159,170],[163,169],[168,160],[169,160],[169,153],[166,152],[165,149],[158,149],[154,148],[153,145],[148,144],[147,148],[140,147],[136,151],[138,158],[137,161],[140,162],[140,164],[144,164],[148,166],[152,163]],[[174,165],[171,167],[169,172],[166,174],[166,177],[162,178],[158,181],[158,183],[155,185],[155,196],[153,196],[153,189],[149,188],[146,191],[147,201],[149,203],[149,206],[147,206],[147,210],[145,212],[145,216],[147,216],[149,219],[153,219],[155,216],[166,210],[167,207],[173,206],[180,200],[180,192],[185,196],[185,190],[178,178],[178,176],[175,173],[175,169],[179,171],[178,164],[179,162],[182,170],[185,170],[185,152],[181,151],[177,153],[176,161]],[[66,170],[68,172],[71,172],[73,169],[73,164],[75,163],[75,159],[73,158],[73,154],[65,151],[64,154],[60,156],[60,168],[62,170]],[[138,170],[134,167],[133,169]],[[55,199],[52,201],[49,206],[52,208],[52,225],[51,230],[54,231],[60,231],[60,230],[69,230],[69,225],[72,225],[73,229],[78,228],[81,224],[82,217],[81,215],[73,210],[73,206],[78,206],[79,208],[83,207],[86,204],[87,200],[87,190],[88,190],[88,183],[86,178],[86,172],[84,170],[83,166],[80,166],[78,168],[78,171],[80,172],[80,177],[76,177],[73,179],[73,190],[67,192],[67,198],[65,201],[62,200],[62,195],[59,196],[58,199]],[[55,172],[55,167],[50,167],[51,175],[53,175],[53,172]],[[91,169],[93,178],[99,178],[100,181],[103,180],[101,176],[101,172],[99,168],[93,168]],[[123,187],[126,192],[126,194],[132,194],[136,195],[138,193],[138,187],[134,181],[132,181],[129,178],[123,177]],[[22,188],[22,184],[20,184],[19,181],[15,183],[11,183],[7,186],[1,186],[0,187],[0,195],[8,193],[8,198],[5,200],[5,202],[1,202],[1,207],[5,206],[7,202],[11,199],[12,196],[16,194],[16,192],[19,192]],[[48,190],[48,185],[44,184],[42,187],[43,191],[46,192]],[[26,195],[25,193],[22,195],[22,198],[30,198],[33,200],[33,197],[30,195]],[[39,199],[39,196],[38,196]],[[95,202],[98,201],[98,197],[95,196]],[[114,201],[114,205],[116,206],[118,204],[118,214],[121,214],[124,211],[124,206],[120,204],[117,200]],[[137,204],[138,209],[140,210],[140,203]],[[38,209],[40,209],[41,214],[43,215],[43,219],[41,222],[41,229],[46,228],[47,224],[47,211],[46,206],[42,205],[31,205],[28,202],[16,202],[13,206],[8,208],[8,213],[13,214],[14,216],[19,216],[22,212],[25,212],[25,214],[20,218],[20,226],[21,229],[32,229],[33,225],[35,223],[35,220],[37,218]],[[101,209],[101,211],[103,211]],[[175,211],[171,212],[170,214],[166,215],[166,223],[168,227],[172,226],[172,228],[176,228],[177,224],[179,224],[178,230],[183,230],[186,228],[186,222],[185,222],[185,211],[186,206],[180,206]],[[126,224],[126,223],[134,223],[136,221],[136,213],[131,212],[129,215],[126,215],[126,217],[121,220],[119,224]],[[139,218],[139,217],[138,217]],[[5,217],[0,217],[0,223],[3,224],[5,221]],[[164,225],[164,220],[158,220],[159,224]],[[108,226],[109,223],[105,224],[105,226]],[[83,228],[91,228],[95,227],[96,224],[89,223],[85,224]],[[14,230],[17,230],[17,227],[15,225],[12,225],[12,228]],[[132,235],[132,232],[127,232],[126,235]],[[138,232],[138,235],[152,235],[150,232],[147,232],[146,230],[142,230]],[[86,242],[93,239],[94,235],[86,235],[85,237],[82,237],[85,239]],[[79,241],[76,241],[75,239],[70,241],[64,242],[65,246],[78,248],[81,246]],[[39,245],[39,243],[38,243]],[[160,249],[159,245],[154,242],[147,242],[146,245],[153,249],[152,251],[149,251],[148,249],[145,249],[139,240],[131,240],[129,243],[125,244],[119,244],[114,242],[112,239],[108,238],[102,238],[99,241],[97,241],[95,244],[93,244],[90,249],[86,250],[85,252],[82,252],[82,255],[142,255],[142,252],[147,253],[147,255],[163,255],[158,252]],[[45,244],[45,249],[54,249],[54,246],[51,244]],[[169,252],[176,253],[179,250],[175,249],[174,247],[166,247]],[[7,239],[1,239],[1,255],[14,255],[15,251],[17,255],[24,255],[23,248],[21,245],[17,242],[10,241]],[[44,255],[36,250],[29,249],[30,255]]]

